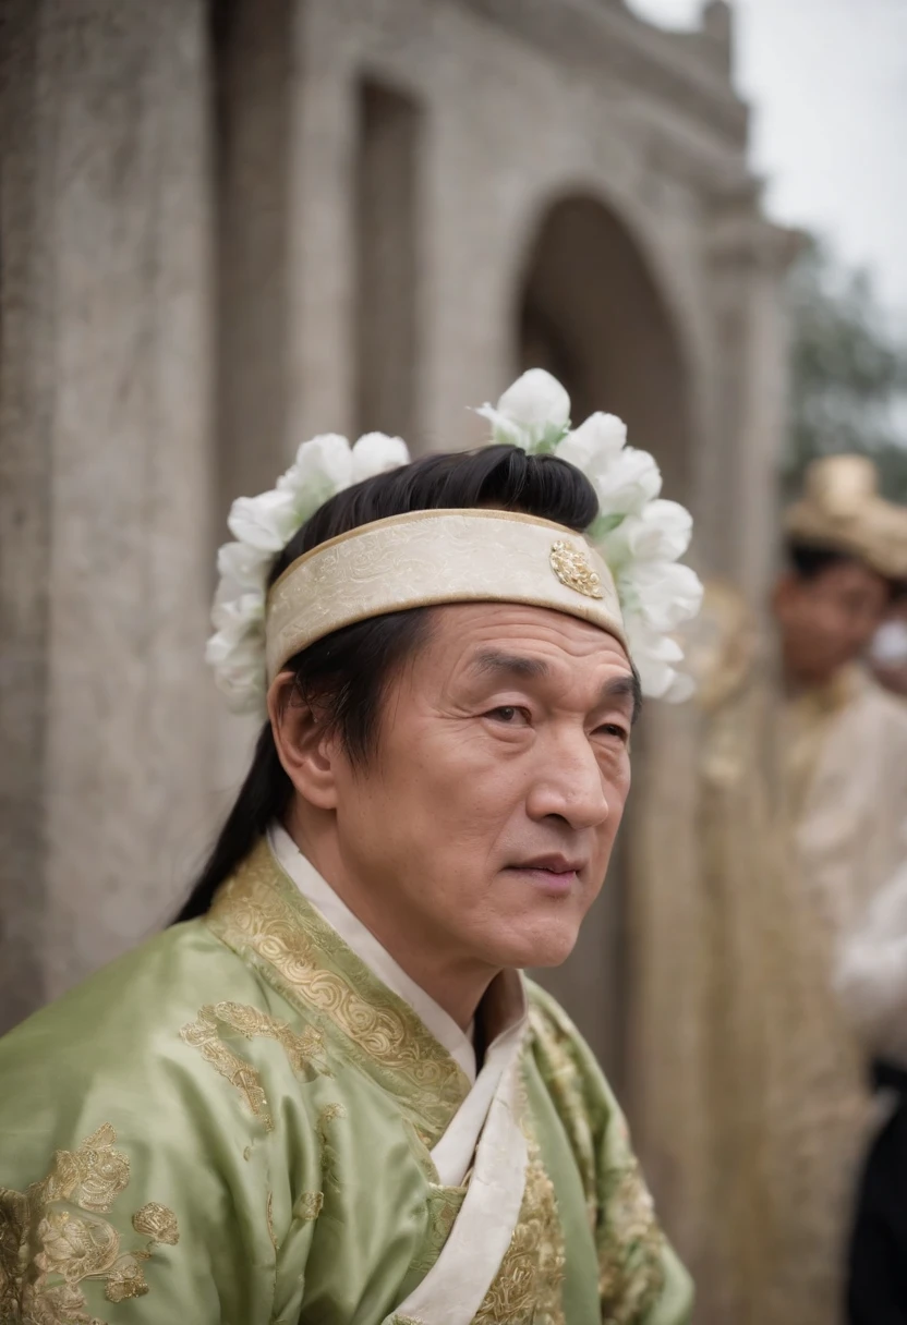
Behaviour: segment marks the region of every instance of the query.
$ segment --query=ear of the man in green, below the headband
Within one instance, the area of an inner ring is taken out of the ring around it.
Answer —
[[[292,672],[274,677],[268,690],[268,717],[277,758],[294,788],[318,810],[334,810],[339,746],[300,694]]]

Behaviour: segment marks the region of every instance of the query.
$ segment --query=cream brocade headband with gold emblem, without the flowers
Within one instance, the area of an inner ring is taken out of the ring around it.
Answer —
[[[268,596],[268,681],[343,625],[476,602],[549,607],[623,640],[614,580],[581,534],[513,511],[420,510],[341,534],[284,571]]]

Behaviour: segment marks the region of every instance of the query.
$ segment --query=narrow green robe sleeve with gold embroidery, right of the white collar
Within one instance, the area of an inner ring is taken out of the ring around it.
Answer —
[[[603,1325],[688,1325],[694,1291],[658,1223],[623,1114],[566,1014],[532,988],[544,1075],[586,1189]]]

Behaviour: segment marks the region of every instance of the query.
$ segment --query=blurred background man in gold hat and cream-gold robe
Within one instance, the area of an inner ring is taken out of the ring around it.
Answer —
[[[869,461],[818,461],[785,560],[773,631],[709,586],[690,644],[704,920],[684,959],[708,1031],[688,1068],[704,1138],[688,1182],[705,1220],[724,1212],[696,1267],[707,1322],[829,1325],[842,1306],[869,1090],[833,971],[907,859],[907,706],[863,666],[907,578],[907,513]]]

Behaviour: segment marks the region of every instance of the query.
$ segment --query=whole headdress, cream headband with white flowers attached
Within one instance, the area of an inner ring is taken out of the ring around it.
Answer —
[[[263,712],[286,661],[343,625],[463,602],[526,603],[591,621],[625,644],[646,694],[676,701],[691,693],[672,632],[701,602],[699,579],[678,564],[692,519],[659,500],[654,458],[626,445],[614,415],[594,413],[572,429],[570,399],[541,368],[477,413],[495,443],[554,454],[586,474],[599,513],[585,537],[511,511],[411,511],[320,545],[268,592],[276,556],[329,497],[410,461],[406,444],[383,433],[353,447],[335,433],[302,443],[272,492],[233,502],[235,542],[217,555],[206,657],[233,712]]]

